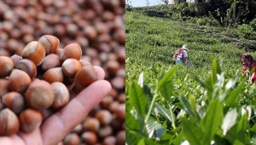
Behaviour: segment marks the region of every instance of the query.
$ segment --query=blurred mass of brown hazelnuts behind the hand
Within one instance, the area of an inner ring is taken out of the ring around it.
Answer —
[[[21,55],[27,44],[44,35],[59,39],[56,55],[68,44],[79,44],[84,65],[102,67],[113,86],[59,144],[125,144],[125,0],[0,1],[0,55]],[[5,78],[0,81],[6,82]],[[0,95],[9,91],[2,88]],[[106,114],[97,113],[101,110]],[[97,120],[98,129],[87,129],[86,120],[101,119],[100,115],[107,115],[111,122]]]

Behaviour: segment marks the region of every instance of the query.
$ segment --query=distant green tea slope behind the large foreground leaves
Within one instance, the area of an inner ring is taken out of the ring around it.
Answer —
[[[217,26],[199,26],[126,11],[126,78],[151,73],[152,67],[172,67],[172,55],[183,44],[189,46],[193,72],[211,70],[211,57],[223,61],[223,69],[236,73],[241,69],[240,55],[246,52],[232,30]],[[253,56],[254,52],[250,52]],[[186,69],[186,68],[184,68]]]

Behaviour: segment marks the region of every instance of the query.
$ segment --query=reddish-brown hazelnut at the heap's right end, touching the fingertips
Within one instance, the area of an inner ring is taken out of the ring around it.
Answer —
[[[74,77],[75,87],[78,90],[83,90],[88,85],[98,79],[96,69],[90,65],[84,66],[76,73]]]

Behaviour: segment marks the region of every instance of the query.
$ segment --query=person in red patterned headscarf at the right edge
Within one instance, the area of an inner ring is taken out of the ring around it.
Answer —
[[[253,60],[253,56],[247,53],[241,55],[242,73],[247,75],[250,82],[256,80],[256,61]],[[253,73],[250,75],[250,72]]]

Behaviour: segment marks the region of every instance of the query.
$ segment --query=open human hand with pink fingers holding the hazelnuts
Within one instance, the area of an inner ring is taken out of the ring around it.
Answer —
[[[13,136],[0,136],[0,144],[56,145],[61,142],[111,90],[111,84],[103,80],[105,73],[102,67],[95,68],[98,80],[80,91],[61,110],[45,119],[39,129],[32,133],[19,131]]]

